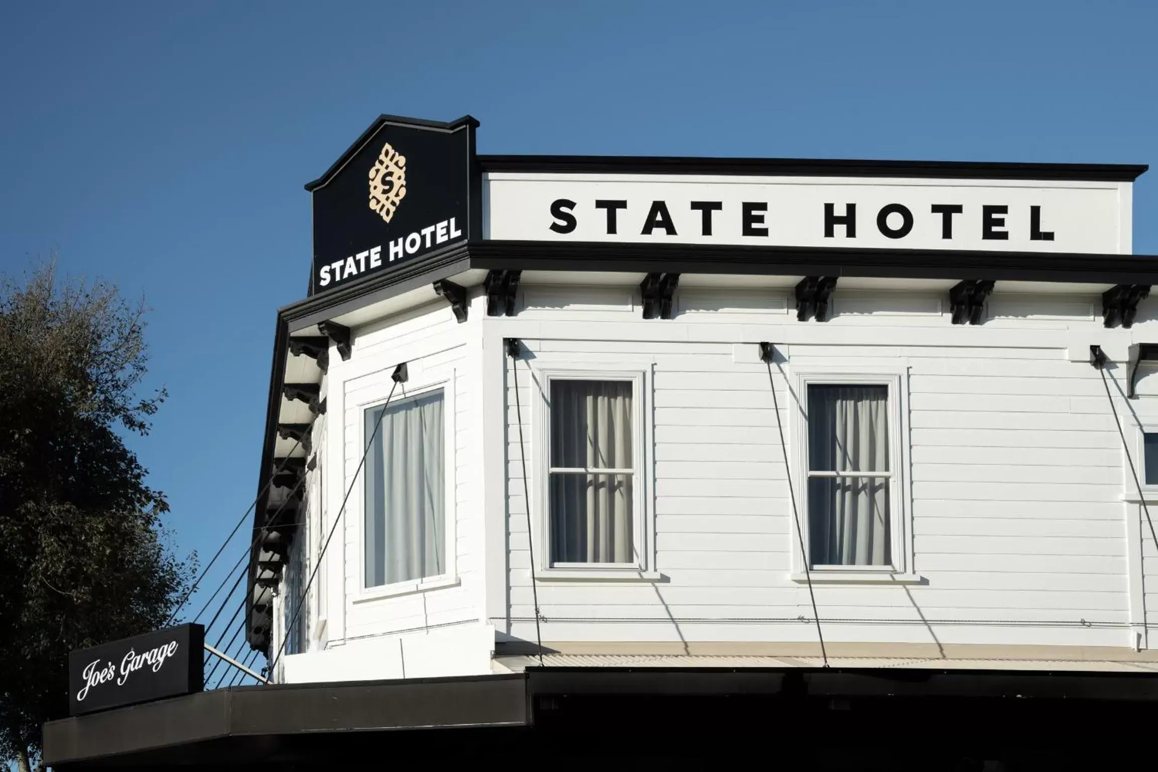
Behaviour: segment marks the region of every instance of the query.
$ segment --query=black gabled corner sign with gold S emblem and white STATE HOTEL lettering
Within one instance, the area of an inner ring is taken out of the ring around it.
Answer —
[[[310,294],[460,244],[481,220],[475,127],[382,116],[314,193]]]

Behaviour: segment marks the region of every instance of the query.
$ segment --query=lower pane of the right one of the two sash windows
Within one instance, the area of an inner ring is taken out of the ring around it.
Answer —
[[[888,479],[808,479],[808,546],[813,566],[892,564]]]

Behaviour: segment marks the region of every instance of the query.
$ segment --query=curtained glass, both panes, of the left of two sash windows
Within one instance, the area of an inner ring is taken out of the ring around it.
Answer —
[[[551,563],[631,563],[629,381],[551,381]]]

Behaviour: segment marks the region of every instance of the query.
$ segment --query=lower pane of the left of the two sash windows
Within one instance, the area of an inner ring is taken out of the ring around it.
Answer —
[[[550,476],[551,563],[631,563],[631,476]]]

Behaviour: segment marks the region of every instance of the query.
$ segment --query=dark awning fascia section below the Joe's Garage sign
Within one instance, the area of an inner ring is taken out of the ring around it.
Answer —
[[[241,686],[50,721],[44,762],[112,766],[331,760],[378,733],[523,727],[525,676]]]

